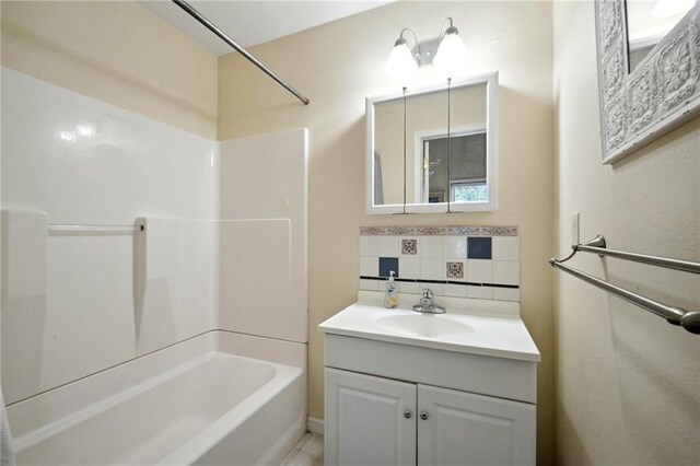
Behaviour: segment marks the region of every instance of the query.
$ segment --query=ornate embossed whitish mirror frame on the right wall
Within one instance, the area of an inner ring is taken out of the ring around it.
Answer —
[[[700,3],[629,72],[625,0],[595,2],[603,163],[700,113]]]

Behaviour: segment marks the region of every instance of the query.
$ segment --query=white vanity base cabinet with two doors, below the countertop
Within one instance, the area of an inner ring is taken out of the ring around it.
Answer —
[[[535,464],[535,360],[331,331],[326,465]]]

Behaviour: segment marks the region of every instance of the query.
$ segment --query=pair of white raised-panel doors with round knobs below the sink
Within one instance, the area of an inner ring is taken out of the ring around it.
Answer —
[[[326,465],[526,465],[535,406],[326,369]]]

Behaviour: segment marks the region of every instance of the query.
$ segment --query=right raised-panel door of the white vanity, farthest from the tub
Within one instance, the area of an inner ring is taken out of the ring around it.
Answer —
[[[419,385],[418,412],[419,465],[535,464],[534,405]]]

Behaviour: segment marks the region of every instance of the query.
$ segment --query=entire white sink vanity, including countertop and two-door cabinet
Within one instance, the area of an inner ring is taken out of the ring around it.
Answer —
[[[385,317],[417,321],[357,303],[319,325],[326,465],[535,464],[539,352],[517,315],[424,316],[438,336]]]

